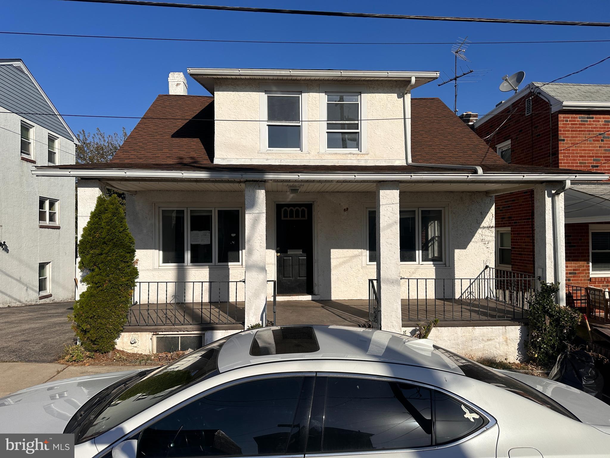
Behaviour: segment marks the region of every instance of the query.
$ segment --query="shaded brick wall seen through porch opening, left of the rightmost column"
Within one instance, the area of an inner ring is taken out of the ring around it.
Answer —
[[[498,195],[495,208],[496,227],[511,228],[512,271],[534,274],[533,191]]]

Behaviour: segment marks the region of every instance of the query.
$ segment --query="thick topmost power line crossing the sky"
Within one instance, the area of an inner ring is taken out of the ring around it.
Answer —
[[[458,22],[479,22],[479,23],[500,23],[500,24],[610,27],[610,23],[588,22],[588,21],[546,21],[546,20],[533,20],[533,19],[461,18],[461,17],[453,17],[453,16],[418,16],[418,15],[386,14],[386,13],[350,13],[350,12],[339,12],[339,11],[287,10],[287,9],[278,9],[278,8],[253,8],[253,7],[224,6],[224,5],[197,5],[197,4],[188,4],[188,3],[151,2],[151,1],[144,1],[144,0],[63,0],[63,1],[87,2],[87,3],[113,3],[113,4],[124,4],[124,5],[156,6],[156,7],[170,7],[170,8],[190,8],[190,9],[200,9],[200,10],[240,11],[240,12],[251,12],[251,13],[296,14],[296,15],[308,15],[308,16],[340,16],[340,17],[351,17],[351,18],[403,19],[403,20],[418,20],[418,21],[458,21]]]

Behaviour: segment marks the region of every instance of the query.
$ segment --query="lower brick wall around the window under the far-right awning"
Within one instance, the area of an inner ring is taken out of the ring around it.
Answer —
[[[610,288],[610,277],[590,277],[589,223],[565,225],[565,283]]]

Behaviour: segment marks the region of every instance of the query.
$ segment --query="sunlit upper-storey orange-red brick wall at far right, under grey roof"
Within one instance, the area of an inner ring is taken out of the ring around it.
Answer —
[[[597,135],[608,129],[610,129],[610,114],[584,111],[561,112],[559,167],[610,172],[610,132]]]

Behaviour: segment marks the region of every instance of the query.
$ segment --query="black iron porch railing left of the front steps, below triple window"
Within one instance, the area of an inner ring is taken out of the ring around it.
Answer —
[[[127,325],[242,324],[244,286],[245,280],[136,282]]]

